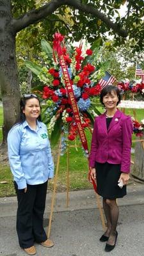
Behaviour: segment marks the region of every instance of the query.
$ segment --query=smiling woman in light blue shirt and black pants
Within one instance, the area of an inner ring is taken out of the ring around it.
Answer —
[[[34,242],[53,246],[43,227],[47,181],[54,175],[47,127],[41,122],[40,100],[26,94],[20,116],[8,133],[8,158],[17,193],[17,234],[20,247],[36,253]]]

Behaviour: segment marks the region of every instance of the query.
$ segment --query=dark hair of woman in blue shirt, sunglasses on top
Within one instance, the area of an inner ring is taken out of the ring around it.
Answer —
[[[24,94],[21,97],[21,99],[20,99],[20,113],[19,113],[19,117],[17,118],[17,121],[15,122],[15,124],[23,123],[26,120],[26,116],[24,115],[22,110],[25,108],[27,100],[33,99],[33,98],[37,99],[39,104],[40,104],[40,99],[35,94],[32,94],[32,93],[31,94]],[[42,119],[41,119],[40,115],[38,116],[37,120],[41,122]]]

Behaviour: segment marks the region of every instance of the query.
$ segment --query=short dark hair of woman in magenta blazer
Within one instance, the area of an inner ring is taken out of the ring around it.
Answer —
[[[104,96],[106,96],[107,94],[111,94],[111,92],[115,92],[118,96],[118,102],[116,105],[118,105],[118,103],[120,103],[121,100],[121,96],[120,96],[120,90],[118,89],[117,86],[109,84],[106,87],[104,87],[100,93],[100,102],[104,105],[103,103],[103,98]]]

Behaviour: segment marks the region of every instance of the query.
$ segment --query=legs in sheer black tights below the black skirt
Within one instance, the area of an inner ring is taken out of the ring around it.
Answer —
[[[113,245],[115,244],[116,226],[118,223],[119,215],[116,199],[103,198],[103,208],[107,220],[107,230],[104,235],[109,237],[108,243]]]

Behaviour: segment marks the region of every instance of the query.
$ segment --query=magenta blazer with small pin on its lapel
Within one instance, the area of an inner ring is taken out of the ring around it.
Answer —
[[[116,111],[109,128],[106,127],[106,113],[95,118],[92,145],[90,152],[90,167],[99,163],[121,164],[121,172],[130,172],[131,164],[131,116],[119,110]]]

